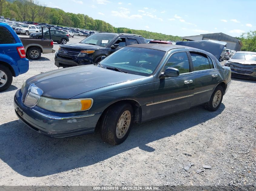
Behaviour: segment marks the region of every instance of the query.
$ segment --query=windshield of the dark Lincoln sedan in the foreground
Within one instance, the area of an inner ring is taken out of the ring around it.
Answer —
[[[102,60],[100,64],[103,68],[118,68],[129,74],[150,76],[157,69],[165,53],[161,50],[124,47]]]

